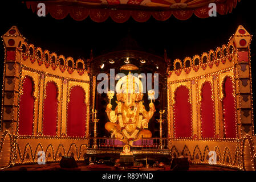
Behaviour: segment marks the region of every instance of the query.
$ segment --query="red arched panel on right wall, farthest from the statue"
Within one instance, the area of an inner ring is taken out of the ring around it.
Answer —
[[[227,77],[224,83],[223,115],[226,138],[235,138],[235,98],[233,82]]]

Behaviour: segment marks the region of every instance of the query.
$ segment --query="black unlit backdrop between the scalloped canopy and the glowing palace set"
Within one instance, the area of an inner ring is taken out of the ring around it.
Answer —
[[[166,49],[172,61],[177,58],[183,60],[186,56],[201,55],[202,52],[226,44],[241,24],[253,35],[251,71],[255,92],[255,1],[241,0],[233,12],[227,15],[217,14],[217,17],[206,19],[193,15],[185,21],[171,16],[164,22],[151,18],[145,23],[136,22],[132,18],[125,23],[115,23],[111,18],[103,23],[96,23],[89,16],[82,22],[77,22],[69,15],[65,19],[56,20],[50,14],[38,17],[22,1],[2,0],[0,3],[0,35],[5,34],[11,26],[17,26],[28,43],[56,52],[57,55],[72,56],[75,60],[88,59],[91,49],[94,57],[109,52],[128,34],[147,52],[164,57]],[[4,49],[0,45],[1,63],[3,59]],[[2,72],[3,66],[0,68],[0,75]],[[2,86],[0,89],[2,90]],[[255,101],[256,99],[254,106]]]

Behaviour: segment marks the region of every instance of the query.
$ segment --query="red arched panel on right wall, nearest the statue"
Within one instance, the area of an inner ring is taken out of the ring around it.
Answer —
[[[189,90],[180,86],[175,92],[174,132],[175,137],[192,137],[192,115],[189,103]]]

